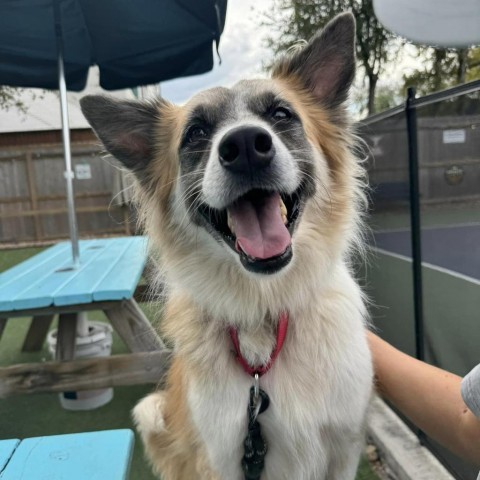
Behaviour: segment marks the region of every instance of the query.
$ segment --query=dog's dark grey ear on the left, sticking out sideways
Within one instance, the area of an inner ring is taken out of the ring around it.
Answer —
[[[143,171],[154,156],[158,103],[87,95],[80,106],[106,150],[135,173]]]

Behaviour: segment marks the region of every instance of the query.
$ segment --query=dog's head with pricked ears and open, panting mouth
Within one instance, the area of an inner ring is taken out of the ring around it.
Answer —
[[[354,39],[352,15],[340,15],[277,62],[271,79],[213,88],[184,106],[82,99],[106,149],[136,174],[148,233],[170,236],[172,256],[219,255],[275,274],[295,263],[308,218],[338,243],[333,232],[345,232],[358,190],[343,105]]]

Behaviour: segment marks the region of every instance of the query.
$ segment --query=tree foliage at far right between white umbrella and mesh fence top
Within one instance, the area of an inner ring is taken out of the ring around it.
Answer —
[[[427,95],[480,78],[480,48],[421,47],[418,55],[425,67],[404,75],[404,91],[413,86],[419,95]]]

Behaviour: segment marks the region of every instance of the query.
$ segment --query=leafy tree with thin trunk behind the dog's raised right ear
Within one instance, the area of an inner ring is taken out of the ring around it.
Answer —
[[[335,15],[350,10],[357,21],[357,57],[368,79],[368,113],[375,113],[375,90],[383,68],[392,55],[394,36],[376,19],[372,0],[274,0],[263,25],[275,34],[267,45],[275,55],[299,40],[308,40]]]

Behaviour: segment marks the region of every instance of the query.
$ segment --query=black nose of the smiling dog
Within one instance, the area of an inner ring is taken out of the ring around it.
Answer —
[[[272,136],[257,126],[237,127],[222,138],[218,147],[220,163],[228,170],[249,173],[270,165],[275,156]]]

